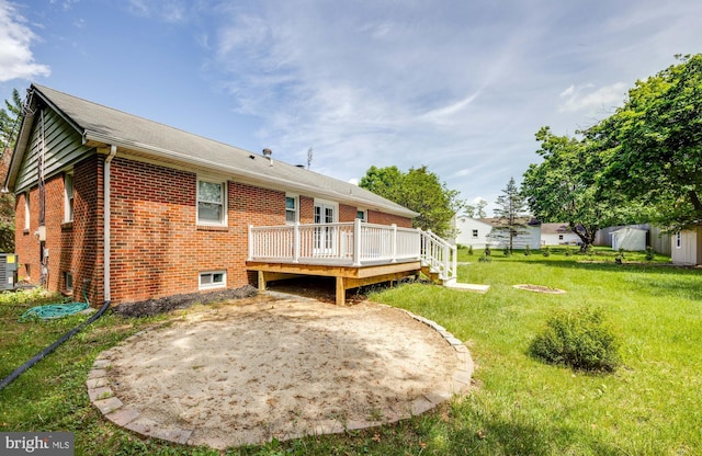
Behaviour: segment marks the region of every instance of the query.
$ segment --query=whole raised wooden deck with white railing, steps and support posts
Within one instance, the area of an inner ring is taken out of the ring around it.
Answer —
[[[423,271],[445,284],[455,281],[456,250],[430,231],[352,223],[249,227],[247,269],[259,289],[297,276],[336,277],[337,304],[347,289],[399,281]]]

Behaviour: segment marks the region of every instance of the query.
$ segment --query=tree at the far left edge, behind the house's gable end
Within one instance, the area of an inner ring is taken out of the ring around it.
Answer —
[[[5,100],[5,107],[0,109],[0,180],[4,182],[10,166],[10,158],[16,141],[22,99],[18,90],[12,91],[12,102]],[[0,251],[14,251],[14,196],[0,194]]]

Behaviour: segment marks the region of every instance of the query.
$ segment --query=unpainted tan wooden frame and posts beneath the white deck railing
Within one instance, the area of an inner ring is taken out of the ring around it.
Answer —
[[[343,266],[247,261],[247,269],[258,272],[259,290],[261,292],[265,290],[267,283],[272,281],[305,275],[336,277],[337,305],[343,306],[348,289],[418,275],[421,271],[421,263],[411,261],[369,266]]]

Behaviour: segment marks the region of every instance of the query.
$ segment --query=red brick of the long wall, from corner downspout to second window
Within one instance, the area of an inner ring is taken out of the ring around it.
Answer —
[[[113,161],[113,301],[196,292],[205,271],[226,271],[228,287],[249,283],[248,227],[284,224],[284,192],[229,182],[228,226],[206,227],[196,184],[192,172]]]

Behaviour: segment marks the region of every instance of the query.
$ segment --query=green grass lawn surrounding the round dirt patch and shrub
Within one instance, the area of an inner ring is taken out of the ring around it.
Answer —
[[[494,250],[491,262],[478,262],[480,251],[461,250],[460,281],[489,284],[487,294],[410,284],[372,295],[465,341],[476,363],[469,395],[395,425],[226,454],[702,454],[701,272],[666,265],[663,256],[646,262],[626,252],[620,265],[615,252],[571,252],[505,256]],[[532,293],[514,284],[567,293]],[[12,296],[0,296],[1,378],[84,318],[16,323],[29,304]],[[623,365],[616,372],[589,375],[528,355],[553,311],[584,306],[602,308],[618,335]],[[0,391],[0,431],[75,432],[77,455],[218,455],[140,440],[105,423],[88,401],[84,380],[98,353],[154,321],[106,315],[68,341]]]

